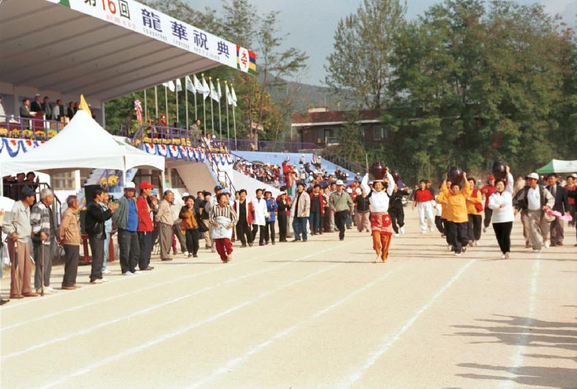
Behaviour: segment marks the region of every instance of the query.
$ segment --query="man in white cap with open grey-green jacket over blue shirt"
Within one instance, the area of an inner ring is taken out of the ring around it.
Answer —
[[[127,182],[124,187],[124,196],[118,202],[119,208],[112,215],[112,221],[118,226],[118,242],[120,248],[120,267],[122,274],[130,276],[139,274],[136,270],[140,257],[140,243],[138,242],[138,208],[134,195],[134,182]]]

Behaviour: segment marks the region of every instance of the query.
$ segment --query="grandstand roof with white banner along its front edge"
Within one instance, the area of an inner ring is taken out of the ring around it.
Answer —
[[[134,0],[0,1],[4,88],[105,102],[220,64],[254,73],[255,58]]]

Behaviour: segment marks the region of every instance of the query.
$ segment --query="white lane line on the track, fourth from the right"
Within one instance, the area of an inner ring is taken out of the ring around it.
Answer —
[[[341,247],[341,246],[339,246],[339,247]],[[323,250],[323,251],[325,251],[325,250]],[[313,255],[317,255],[317,254],[318,254],[318,252],[315,252]],[[178,335],[182,335],[183,333],[186,333],[186,332],[191,331],[193,329],[197,329],[198,327],[206,325],[210,322],[214,322],[214,321],[218,320],[219,318],[223,318],[224,316],[226,316],[228,314],[232,314],[232,312],[234,312],[234,311],[238,311],[239,309],[246,307],[247,305],[254,304],[258,300],[262,300],[262,298],[270,296],[271,294],[273,294],[275,292],[279,292],[279,291],[284,290],[288,287],[292,287],[293,285],[296,285],[297,283],[301,283],[303,281],[306,281],[306,280],[308,280],[314,276],[317,276],[317,275],[322,274],[324,272],[328,272],[328,270],[335,268],[336,266],[341,266],[341,265],[342,265],[342,263],[335,263],[334,265],[328,266],[326,268],[322,268],[320,270],[317,270],[314,273],[308,274],[307,276],[304,276],[301,279],[291,281],[290,283],[286,283],[280,287],[276,287],[275,289],[269,290],[268,292],[263,292],[263,293],[259,294],[258,296],[251,298],[250,300],[246,300],[244,303],[240,303],[238,305],[235,305],[234,307],[226,309],[225,311],[221,311],[219,314],[215,314],[215,315],[210,316],[209,318],[206,318],[204,320],[194,322],[193,324],[188,325],[186,327],[182,327],[181,329],[177,329],[176,331],[166,333],[166,334],[164,334],[164,335],[162,335],[156,339],[149,340],[148,342],[140,344],[140,346],[132,347],[130,349],[125,349],[124,351],[121,351],[120,353],[116,353],[116,354],[110,355],[110,357],[106,357],[104,359],[101,359],[99,362],[95,362],[93,364],[89,364],[87,366],[84,366],[83,368],[76,370],[74,373],[64,375],[64,376],[60,377],[59,379],[56,379],[55,381],[50,382],[49,384],[46,384],[44,386],[40,386],[39,389],[47,389],[47,388],[53,388],[54,386],[60,386],[60,385],[64,384],[64,382],[68,381],[71,378],[79,377],[81,375],[90,373],[91,371],[93,371],[97,368],[100,368],[101,366],[106,366],[107,364],[110,364],[111,362],[115,362],[115,361],[117,361],[119,359],[123,359],[124,357],[127,357],[129,355],[139,353],[140,351],[149,349],[150,347],[155,346],[156,344],[162,343],[165,340],[170,340],[172,338],[175,338]]]

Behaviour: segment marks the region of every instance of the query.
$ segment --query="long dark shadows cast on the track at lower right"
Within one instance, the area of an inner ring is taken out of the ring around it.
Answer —
[[[558,359],[577,362],[577,356],[548,354],[549,351],[563,350],[570,354],[577,352],[577,327],[574,322],[553,322],[522,316],[494,315],[490,319],[477,319],[479,325],[454,325],[459,331],[451,336],[474,338],[471,344],[500,343],[508,346],[527,346],[532,350],[541,348],[545,353],[524,353],[523,366],[498,366],[478,363],[461,363],[457,366],[507,373],[478,374],[461,373],[458,377],[512,381],[521,387],[577,388],[577,368],[535,366],[528,359]],[[514,351],[512,350],[512,353]],[[513,377],[511,377],[513,375]]]

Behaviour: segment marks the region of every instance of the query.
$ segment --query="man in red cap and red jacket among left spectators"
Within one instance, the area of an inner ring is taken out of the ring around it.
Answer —
[[[150,255],[152,252],[152,231],[154,225],[151,218],[150,192],[154,189],[148,181],[140,182],[140,196],[136,200],[136,209],[138,209],[138,268],[140,270],[152,270],[150,266]]]

